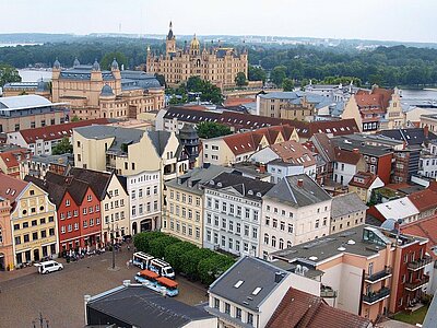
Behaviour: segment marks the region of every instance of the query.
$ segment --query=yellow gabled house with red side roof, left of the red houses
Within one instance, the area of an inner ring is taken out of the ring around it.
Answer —
[[[32,183],[0,174],[0,197],[11,203],[13,258],[5,266],[21,266],[58,255],[56,207],[48,194]]]

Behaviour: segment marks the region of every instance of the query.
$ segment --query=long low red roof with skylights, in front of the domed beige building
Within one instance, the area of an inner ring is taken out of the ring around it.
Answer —
[[[71,137],[74,128],[87,127],[92,125],[105,125],[110,121],[107,118],[85,119],[62,125],[46,126],[36,129],[20,130],[27,144],[35,143],[37,140],[57,140],[63,137]]]

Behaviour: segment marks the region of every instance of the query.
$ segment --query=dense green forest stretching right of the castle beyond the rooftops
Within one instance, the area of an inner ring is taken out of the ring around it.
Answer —
[[[437,49],[429,48],[394,46],[339,52],[310,46],[287,49],[257,47],[249,49],[249,61],[268,71],[285,68],[285,78],[298,82],[355,77],[367,85],[437,84]]]

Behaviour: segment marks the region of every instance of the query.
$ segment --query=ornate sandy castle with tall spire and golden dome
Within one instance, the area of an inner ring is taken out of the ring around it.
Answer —
[[[221,89],[234,87],[235,78],[239,72],[248,74],[248,57],[244,50],[238,54],[234,48],[211,46],[209,49],[192,38],[190,45],[184,49],[176,47],[172,22],[166,38],[165,55],[154,55],[147,48],[146,71],[165,77],[169,86],[186,82],[190,77],[200,77]]]

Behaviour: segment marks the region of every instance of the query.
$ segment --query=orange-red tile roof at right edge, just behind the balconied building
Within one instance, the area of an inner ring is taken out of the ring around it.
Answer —
[[[437,245],[437,215],[421,219],[415,222],[401,225],[401,232],[405,235],[418,236],[428,238],[429,243],[426,244],[427,253],[436,260],[437,255],[432,247]]]

